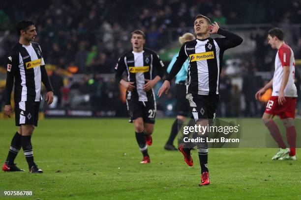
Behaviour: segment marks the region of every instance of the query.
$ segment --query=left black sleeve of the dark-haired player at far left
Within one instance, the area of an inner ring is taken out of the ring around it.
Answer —
[[[19,65],[19,54],[15,50],[11,51],[7,57],[7,73],[5,85],[5,105],[10,105],[11,92],[14,86],[14,77]]]

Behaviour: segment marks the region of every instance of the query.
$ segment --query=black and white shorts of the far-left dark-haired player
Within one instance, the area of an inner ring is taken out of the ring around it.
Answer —
[[[40,101],[20,101],[15,105],[16,126],[34,125],[39,120]]]

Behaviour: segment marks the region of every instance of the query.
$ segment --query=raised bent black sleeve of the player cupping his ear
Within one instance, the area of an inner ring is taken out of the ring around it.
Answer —
[[[224,38],[215,38],[214,40],[222,50],[227,50],[239,46],[242,43],[242,38],[230,31],[219,28],[217,34],[224,36]]]

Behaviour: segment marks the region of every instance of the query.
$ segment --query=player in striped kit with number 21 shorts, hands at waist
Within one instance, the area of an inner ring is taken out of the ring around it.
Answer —
[[[136,140],[143,160],[150,163],[148,145],[152,144],[151,134],[156,116],[154,85],[164,75],[164,64],[152,50],[144,48],[145,34],[141,30],[131,33],[132,50],[125,52],[116,66],[116,80],[126,88],[126,105],[130,122],[135,126]],[[157,71],[154,76],[154,68]],[[121,78],[126,71],[127,80]],[[153,77],[154,76],[154,77]]]

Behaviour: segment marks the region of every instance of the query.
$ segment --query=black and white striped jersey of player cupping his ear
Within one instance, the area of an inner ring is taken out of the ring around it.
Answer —
[[[184,43],[166,80],[171,81],[178,74],[185,60],[189,58],[186,93],[218,94],[224,51],[240,45],[242,38],[221,28],[218,29],[217,34],[225,37],[195,39]]]

